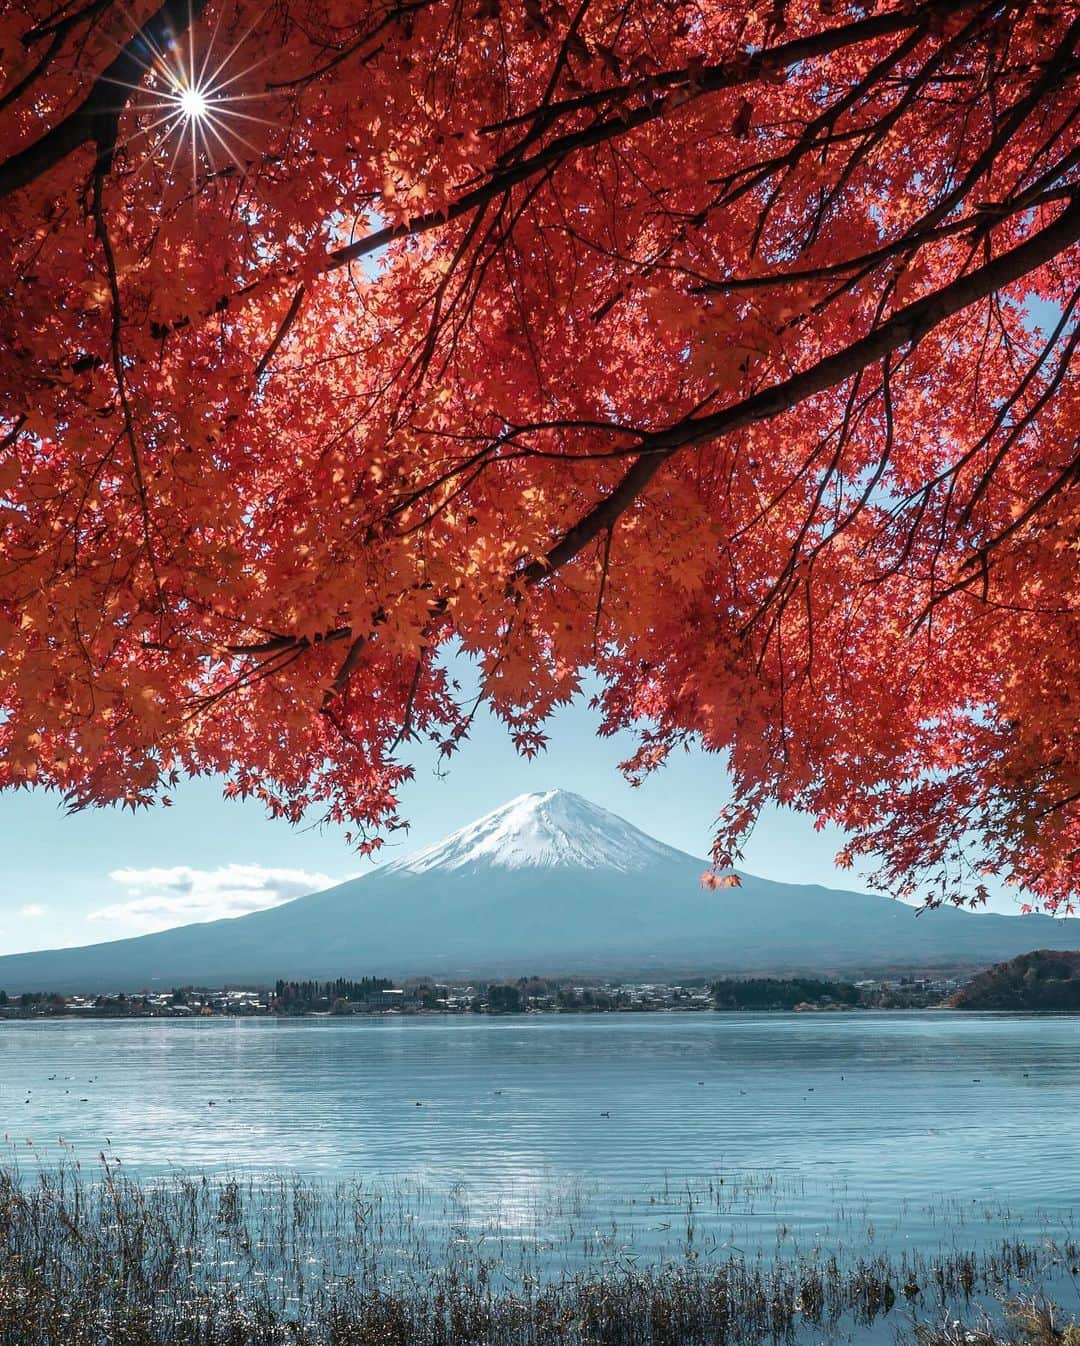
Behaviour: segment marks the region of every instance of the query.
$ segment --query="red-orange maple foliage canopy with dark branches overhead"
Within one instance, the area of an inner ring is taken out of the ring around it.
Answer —
[[[1080,875],[1080,11],[8,0],[0,783],[376,844],[586,674],[893,887]],[[718,806],[723,801],[718,801]]]

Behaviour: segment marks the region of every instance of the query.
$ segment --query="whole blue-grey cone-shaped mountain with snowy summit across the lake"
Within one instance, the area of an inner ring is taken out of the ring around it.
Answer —
[[[522,794],[364,878],[229,921],[0,957],[12,991],[101,991],[381,973],[844,972],[978,968],[1080,946],[1080,921],[953,909],[743,874],[567,790]]]

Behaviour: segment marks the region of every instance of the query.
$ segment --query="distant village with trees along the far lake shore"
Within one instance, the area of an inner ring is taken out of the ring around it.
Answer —
[[[279,980],[273,987],[117,991],[97,996],[50,991],[8,996],[0,991],[0,1019],[917,1010],[945,1005],[967,980],[738,977],[669,984],[520,977],[490,983],[415,979],[397,984],[382,977],[362,977],[357,981]]]

